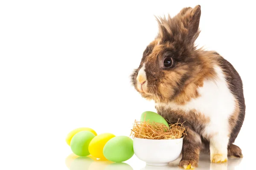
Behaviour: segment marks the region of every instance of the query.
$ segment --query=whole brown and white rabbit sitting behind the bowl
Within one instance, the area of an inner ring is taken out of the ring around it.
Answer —
[[[131,75],[137,91],[153,99],[169,122],[185,122],[180,167],[198,166],[201,149],[213,163],[242,157],[234,145],[244,121],[241,78],[215,51],[197,49],[201,6],[183,8],[175,17],[157,18],[159,34]]]

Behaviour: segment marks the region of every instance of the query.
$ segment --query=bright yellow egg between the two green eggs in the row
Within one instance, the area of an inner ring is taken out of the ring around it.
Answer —
[[[102,133],[93,138],[89,144],[90,154],[99,159],[106,159],[103,155],[103,148],[105,144],[113,137],[115,137],[115,135],[112,133]]]

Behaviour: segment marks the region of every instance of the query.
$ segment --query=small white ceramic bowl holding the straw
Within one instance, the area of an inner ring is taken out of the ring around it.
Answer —
[[[134,153],[147,165],[166,166],[180,156],[182,143],[183,138],[162,140],[134,138]]]

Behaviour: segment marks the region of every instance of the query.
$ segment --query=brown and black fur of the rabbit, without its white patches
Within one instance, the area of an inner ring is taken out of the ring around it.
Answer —
[[[177,105],[184,105],[199,97],[197,89],[204,85],[206,79],[215,79],[214,65],[218,65],[236,98],[236,110],[229,118],[228,153],[230,156],[241,157],[241,149],[233,145],[233,142],[241,129],[245,115],[242,81],[233,66],[218,53],[204,51],[202,48],[196,49],[194,43],[200,33],[200,16],[201,7],[196,6],[183,8],[175,17],[158,17],[159,34],[143,52],[140,66],[134,70],[131,79],[137,89],[138,71],[145,63],[148,91],[140,94],[146,99],[153,99],[156,103],[174,102]],[[173,65],[170,68],[163,67],[163,60],[166,57],[172,57]],[[197,111],[184,113],[164,105],[156,105],[156,109],[157,113],[171,123],[178,120],[184,122],[188,132],[183,139],[183,158],[180,166],[186,167],[191,164],[196,167],[200,149],[209,151],[208,139],[214,135],[201,135],[205,125],[210,121],[209,118]]]

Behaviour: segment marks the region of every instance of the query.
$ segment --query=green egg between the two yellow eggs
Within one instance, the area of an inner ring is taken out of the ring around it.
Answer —
[[[89,131],[76,133],[70,142],[71,150],[78,156],[90,155],[88,146],[94,137],[95,135]]]

